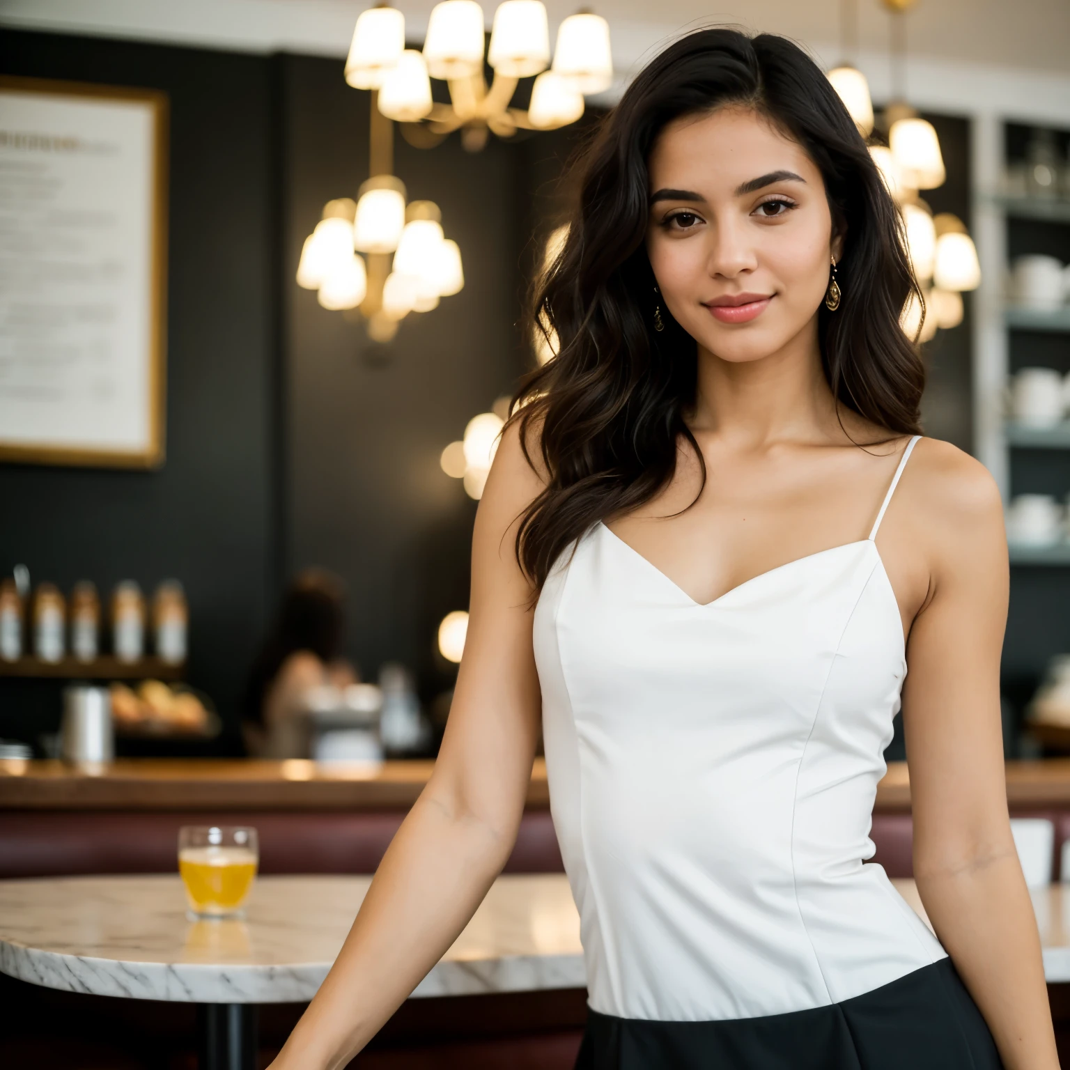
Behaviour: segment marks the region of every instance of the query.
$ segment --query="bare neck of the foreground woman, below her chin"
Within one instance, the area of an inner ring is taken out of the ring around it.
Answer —
[[[725,361],[700,345],[697,386],[691,430],[739,448],[839,431],[816,316],[781,349],[751,361]]]

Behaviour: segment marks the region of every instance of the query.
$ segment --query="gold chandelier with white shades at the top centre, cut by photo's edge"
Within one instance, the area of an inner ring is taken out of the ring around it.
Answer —
[[[483,9],[475,0],[444,0],[427,24],[423,49],[404,47],[404,15],[385,4],[362,12],[346,61],[346,81],[378,90],[379,110],[402,125],[407,140],[431,148],[454,131],[477,152],[490,134],[556,129],[576,122],[584,96],[613,80],[609,25],[598,15],[570,15],[557,30],[553,61],[546,7],[505,0],[494,12],[485,54]],[[484,64],[493,70],[490,86]],[[535,77],[526,110],[510,107],[521,78]],[[446,82],[449,104],[431,96],[431,78]]]

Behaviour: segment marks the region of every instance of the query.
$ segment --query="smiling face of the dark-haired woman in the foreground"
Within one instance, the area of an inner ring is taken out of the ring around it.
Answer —
[[[670,123],[648,170],[651,265],[700,347],[742,363],[815,336],[839,246],[821,172],[799,144],[729,106]]]

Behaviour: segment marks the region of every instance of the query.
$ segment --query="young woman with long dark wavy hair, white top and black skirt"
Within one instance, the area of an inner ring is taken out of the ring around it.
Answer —
[[[536,294],[560,349],[479,504],[434,775],[277,1070],[343,1066],[454,941],[540,727],[581,1067],[1055,1070],[1004,788],[999,498],[918,433],[916,292],[795,45],[704,30],[639,75]],[[936,936],[863,865],[901,702]]]

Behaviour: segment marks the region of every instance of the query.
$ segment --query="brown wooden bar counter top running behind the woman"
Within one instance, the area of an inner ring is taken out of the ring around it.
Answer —
[[[317,765],[220,759],[122,759],[98,769],[63,762],[0,760],[2,810],[397,810],[416,800],[433,763]],[[1007,763],[1012,809],[1070,809],[1070,759]],[[538,759],[529,809],[546,809],[546,762]],[[877,786],[874,813],[906,813],[905,762],[892,762]]]

